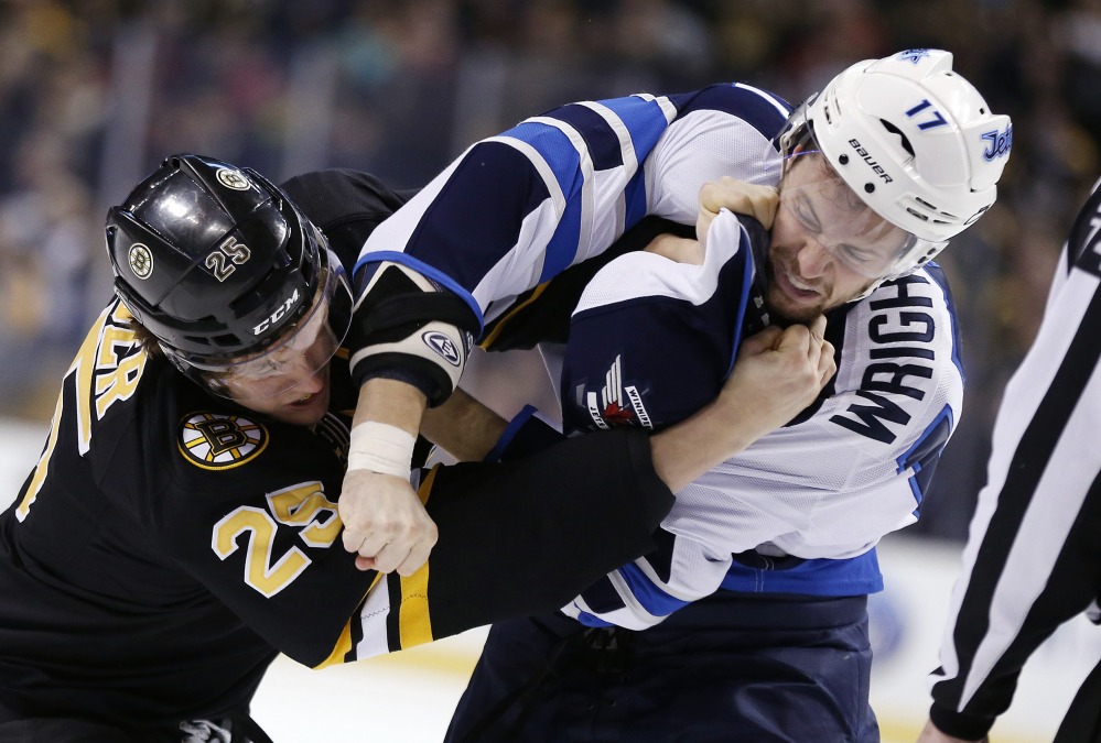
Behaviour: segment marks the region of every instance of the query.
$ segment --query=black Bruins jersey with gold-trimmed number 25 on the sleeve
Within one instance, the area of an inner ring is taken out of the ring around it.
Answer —
[[[285,189],[347,266],[400,204],[343,171]],[[420,487],[441,535],[430,561],[359,571],[336,506],[347,354],[309,429],[208,394],[142,351],[128,319],[114,302],[93,326],[0,515],[0,722],[170,731],[247,710],[278,653],[322,666],[553,610],[651,548],[671,504],[635,431],[438,468]]]

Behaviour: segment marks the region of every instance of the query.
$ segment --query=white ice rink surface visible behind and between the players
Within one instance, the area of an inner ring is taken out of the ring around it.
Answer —
[[[0,505],[14,498],[44,435],[43,424],[0,419]],[[959,546],[893,536],[882,544],[879,560],[888,589],[871,603],[872,703],[884,743],[913,743],[928,708],[925,676],[937,665]],[[253,717],[276,743],[440,741],[484,638],[484,629],[473,630],[324,670],[280,657],[260,687]],[[1084,619],[1062,627],[1029,660],[993,740],[1050,741],[1078,682],[1099,657],[1101,630]],[[737,741],[736,734],[731,740]]]

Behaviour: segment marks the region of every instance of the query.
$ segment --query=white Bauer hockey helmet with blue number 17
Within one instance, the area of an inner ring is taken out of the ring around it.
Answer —
[[[994,204],[1013,124],[952,72],[950,52],[910,50],[852,65],[796,109],[780,134],[785,154],[811,140],[868,207],[913,237],[892,278]]]

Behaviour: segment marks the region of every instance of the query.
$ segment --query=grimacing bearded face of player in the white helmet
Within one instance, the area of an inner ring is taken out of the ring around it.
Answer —
[[[820,153],[792,155],[779,190],[765,299],[788,323],[811,320],[863,294],[906,242],[907,234],[868,208]]]

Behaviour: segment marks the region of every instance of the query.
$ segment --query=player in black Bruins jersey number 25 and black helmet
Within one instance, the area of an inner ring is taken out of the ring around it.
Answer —
[[[400,203],[361,173],[281,190],[177,155],[110,210],[118,297],[0,515],[0,740],[265,741],[248,706],[278,653],[344,663],[561,605],[652,548],[659,474],[682,487],[833,373],[810,332],[764,336],[708,411],[650,439],[652,459],[644,431],[616,431],[418,472],[432,560],[359,570],[338,544],[346,460],[398,471],[349,445],[346,267]],[[764,415],[727,414],[747,403]]]

